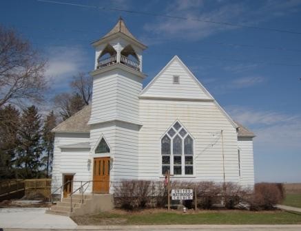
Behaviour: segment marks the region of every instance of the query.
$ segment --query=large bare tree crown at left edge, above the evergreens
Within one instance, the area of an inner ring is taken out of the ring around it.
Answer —
[[[28,41],[0,25],[0,108],[4,104],[39,102],[45,90],[45,61]]]

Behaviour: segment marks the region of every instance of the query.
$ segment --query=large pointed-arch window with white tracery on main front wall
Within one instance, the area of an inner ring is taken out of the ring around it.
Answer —
[[[187,130],[175,122],[161,139],[162,174],[194,174],[194,140]]]

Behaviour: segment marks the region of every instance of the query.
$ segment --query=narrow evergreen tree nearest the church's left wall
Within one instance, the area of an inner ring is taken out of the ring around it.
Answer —
[[[45,156],[43,162],[45,163],[46,177],[52,170],[53,147],[54,147],[54,133],[51,132],[56,126],[56,116],[51,111],[47,116],[43,126],[43,148]]]

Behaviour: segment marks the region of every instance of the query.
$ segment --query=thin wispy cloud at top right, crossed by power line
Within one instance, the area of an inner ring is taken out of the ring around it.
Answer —
[[[301,1],[297,0],[262,1],[256,5],[255,9],[251,2],[178,0],[169,3],[164,14],[183,17],[188,20],[158,17],[155,22],[145,24],[144,29],[154,34],[154,38],[148,37],[151,44],[160,43],[170,38],[196,41],[218,32],[240,29],[240,27],[206,23],[205,21],[258,25],[262,21],[291,14],[300,4]]]

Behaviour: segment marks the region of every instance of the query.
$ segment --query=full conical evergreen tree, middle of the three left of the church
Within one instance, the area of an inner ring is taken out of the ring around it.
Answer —
[[[18,177],[38,178],[41,175],[41,134],[41,115],[37,107],[27,107],[23,110],[19,127],[18,156],[15,161]]]

